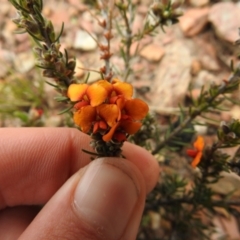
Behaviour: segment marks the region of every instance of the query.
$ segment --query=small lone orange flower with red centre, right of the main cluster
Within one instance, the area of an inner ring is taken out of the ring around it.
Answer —
[[[194,149],[188,149],[187,155],[193,157],[193,161],[191,162],[192,167],[196,167],[203,155],[204,148],[204,139],[202,136],[198,136],[196,141],[193,143]]]

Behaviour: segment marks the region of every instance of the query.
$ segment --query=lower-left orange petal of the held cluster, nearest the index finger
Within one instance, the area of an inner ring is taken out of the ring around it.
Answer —
[[[73,120],[81,128],[84,133],[91,130],[93,121],[96,119],[96,109],[88,105],[82,107],[74,113]]]

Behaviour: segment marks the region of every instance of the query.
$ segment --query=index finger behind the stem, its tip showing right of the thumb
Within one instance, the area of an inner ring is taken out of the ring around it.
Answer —
[[[0,209],[46,203],[79,168],[90,162],[89,136],[70,128],[0,129]],[[123,154],[141,171],[149,192],[159,167],[146,150],[126,143]]]

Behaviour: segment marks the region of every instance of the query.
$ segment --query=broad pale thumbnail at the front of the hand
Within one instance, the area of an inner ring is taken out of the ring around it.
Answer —
[[[126,161],[95,160],[75,191],[79,217],[109,240],[121,237],[138,199],[139,186]]]

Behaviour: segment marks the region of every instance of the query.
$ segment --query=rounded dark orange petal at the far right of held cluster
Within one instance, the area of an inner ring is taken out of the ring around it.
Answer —
[[[148,113],[148,105],[140,99],[127,100],[124,110],[134,120],[142,120]]]

